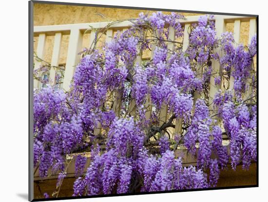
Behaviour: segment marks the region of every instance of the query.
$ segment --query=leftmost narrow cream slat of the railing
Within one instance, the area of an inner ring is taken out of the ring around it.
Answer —
[[[40,59],[43,59],[43,57],[44,57],[45,44],[46,44],[46,34],[39,34],[36,54]],[[38,69],[41,65],[42,65],[42,61],[38,61],[36,59],[34,69],[35,70]],[[35,79],[34,80],[34,88],[38,88],[38,87],[39,87],[39,81]]]

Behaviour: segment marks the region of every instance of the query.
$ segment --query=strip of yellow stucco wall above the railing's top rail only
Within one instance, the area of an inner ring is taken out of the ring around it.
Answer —
[[[34,26],[113,21],[134,18],[140,12],[151,14],[154,11],[35,3]],[[163,13],[169,14],[170,12]],[[181,14],[185,16],[200,15],[191,13]]]

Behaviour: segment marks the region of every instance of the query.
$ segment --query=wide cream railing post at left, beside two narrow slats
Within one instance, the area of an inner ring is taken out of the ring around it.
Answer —
[[[78,55],[78,52],[82,48],[82,42],[83,42],[83,34],[80,32],[80,30],[72,29],[69,39],[67,61],[62,85],[62,88],[66,91],[70,89],[70,84],[75,72],[75,68],[80,59],[80,55]]]

